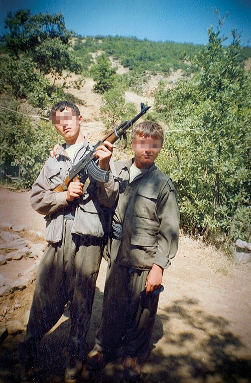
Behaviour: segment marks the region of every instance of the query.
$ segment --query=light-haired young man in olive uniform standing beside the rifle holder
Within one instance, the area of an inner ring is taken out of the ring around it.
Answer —
[[[134,381],[151,339],[162,274],[178,249],[177,193],[154,163],[163,140],[159,124],[139,123],[132,130],[134,159],[115,162],[119,198],[107,246],[110,265],[96,345],[87,358],[89,369],[102,369],[122,346],[124,377]]]

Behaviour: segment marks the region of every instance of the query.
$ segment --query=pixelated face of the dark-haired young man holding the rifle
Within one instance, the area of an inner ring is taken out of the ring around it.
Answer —
[[[80,122],[82,116],[77,116],[75,112],[64,109],[62,112],[57,111],[52,116],[52,125],[55,126],[59,134],[64,137],[67,145],[78,142],[80,138]]]

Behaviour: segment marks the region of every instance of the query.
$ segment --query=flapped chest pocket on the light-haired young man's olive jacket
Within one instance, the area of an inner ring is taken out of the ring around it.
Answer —
[[[157,198],[157,190],[145,185],[140,186],[135,200],[135,216],[153,220],[156,213]]]

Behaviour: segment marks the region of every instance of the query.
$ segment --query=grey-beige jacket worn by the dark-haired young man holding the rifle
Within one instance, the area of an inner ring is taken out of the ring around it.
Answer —
[[[88,141],[76,153],[73,162],[65,151],[65,145],[61,145],[56,157],[49,157],[44,167],[33,184],[31,205],[34,210],[45,215],[46,240],[56,243],[62,239],[63,221],[65,208],[70,203],[66,201],[67,191],[52,191],[62,183],[69,173],[73,164],[77,163],[85,153]],[[112,160],[110,162],[111,169]],[[118,183],[110,172],[106,183],[90,179],[90,184],[84,194],[74,200],[75,218],[72,233],[102,237],[109,231],[111,207],[113,206],[118,192]]]

